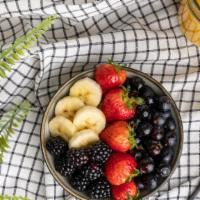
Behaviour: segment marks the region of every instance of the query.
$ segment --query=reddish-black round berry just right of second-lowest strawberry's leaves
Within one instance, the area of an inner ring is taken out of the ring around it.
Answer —
[[[141,174],[149,174],[154,171],[154,161],[151,157],[142,159],[139,164],[138,168]]]

